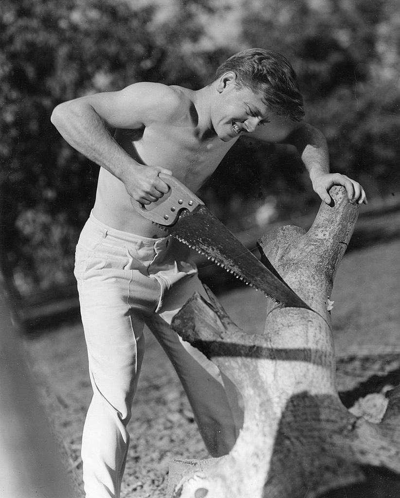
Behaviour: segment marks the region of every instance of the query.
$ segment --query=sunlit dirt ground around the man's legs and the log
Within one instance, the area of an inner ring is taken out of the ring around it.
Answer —
[[[338,357],[380,351],[400,353],[399,254],[397,240],[353,251],[343,259],[331,296],[335,301],[332,317]],[[219,298],[242,329],[262,332],[265,298],[260,292],[245,287]],[[146,339],[128,427],[131,446],[122,498],[164,498],[168,465],[173,458],[207,457],[172,366],[149,333]],[[91,399],[82,326],[65,324],[27,339],[25,346],[40,396],[65,446],[69,471],[80,482],[81,433]],[[343,378],[339,378],[339,388]],[[80,491],[83,494],[82,487]]]

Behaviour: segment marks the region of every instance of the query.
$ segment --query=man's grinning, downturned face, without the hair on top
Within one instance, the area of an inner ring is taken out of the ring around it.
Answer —
[[[271,114],[261,93],[229,83],[218,94],[211,121],[218,137],[227,142],[268,123]]]

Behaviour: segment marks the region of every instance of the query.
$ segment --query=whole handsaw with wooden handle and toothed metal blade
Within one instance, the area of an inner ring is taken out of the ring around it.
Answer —
[[[171,175],[160,173],[158,176],[169,190],[148,205],[132,199],[133,208],[141,216],[281,305],[311,309],[267,258],[263,262],[257,259],[183,183]]]

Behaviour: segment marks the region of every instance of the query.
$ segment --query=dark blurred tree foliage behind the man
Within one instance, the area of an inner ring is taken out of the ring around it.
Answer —
[[[200,88],[252,46],[286,55],[332,169],[372,196],[398,195],[400,13],[376,0],[3,0],[0,5],[1,249],[21,292],[72,278],[98,167],[50,124],[52,109],[135,81]],[[238,143],[201,196],[233,230],[277,204],[318,202],[293,151]]]

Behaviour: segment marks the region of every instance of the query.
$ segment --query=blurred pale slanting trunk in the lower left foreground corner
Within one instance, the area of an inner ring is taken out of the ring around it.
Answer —
[[[31,379],[0,272],[0,497],[73,498],[56,437]]]

